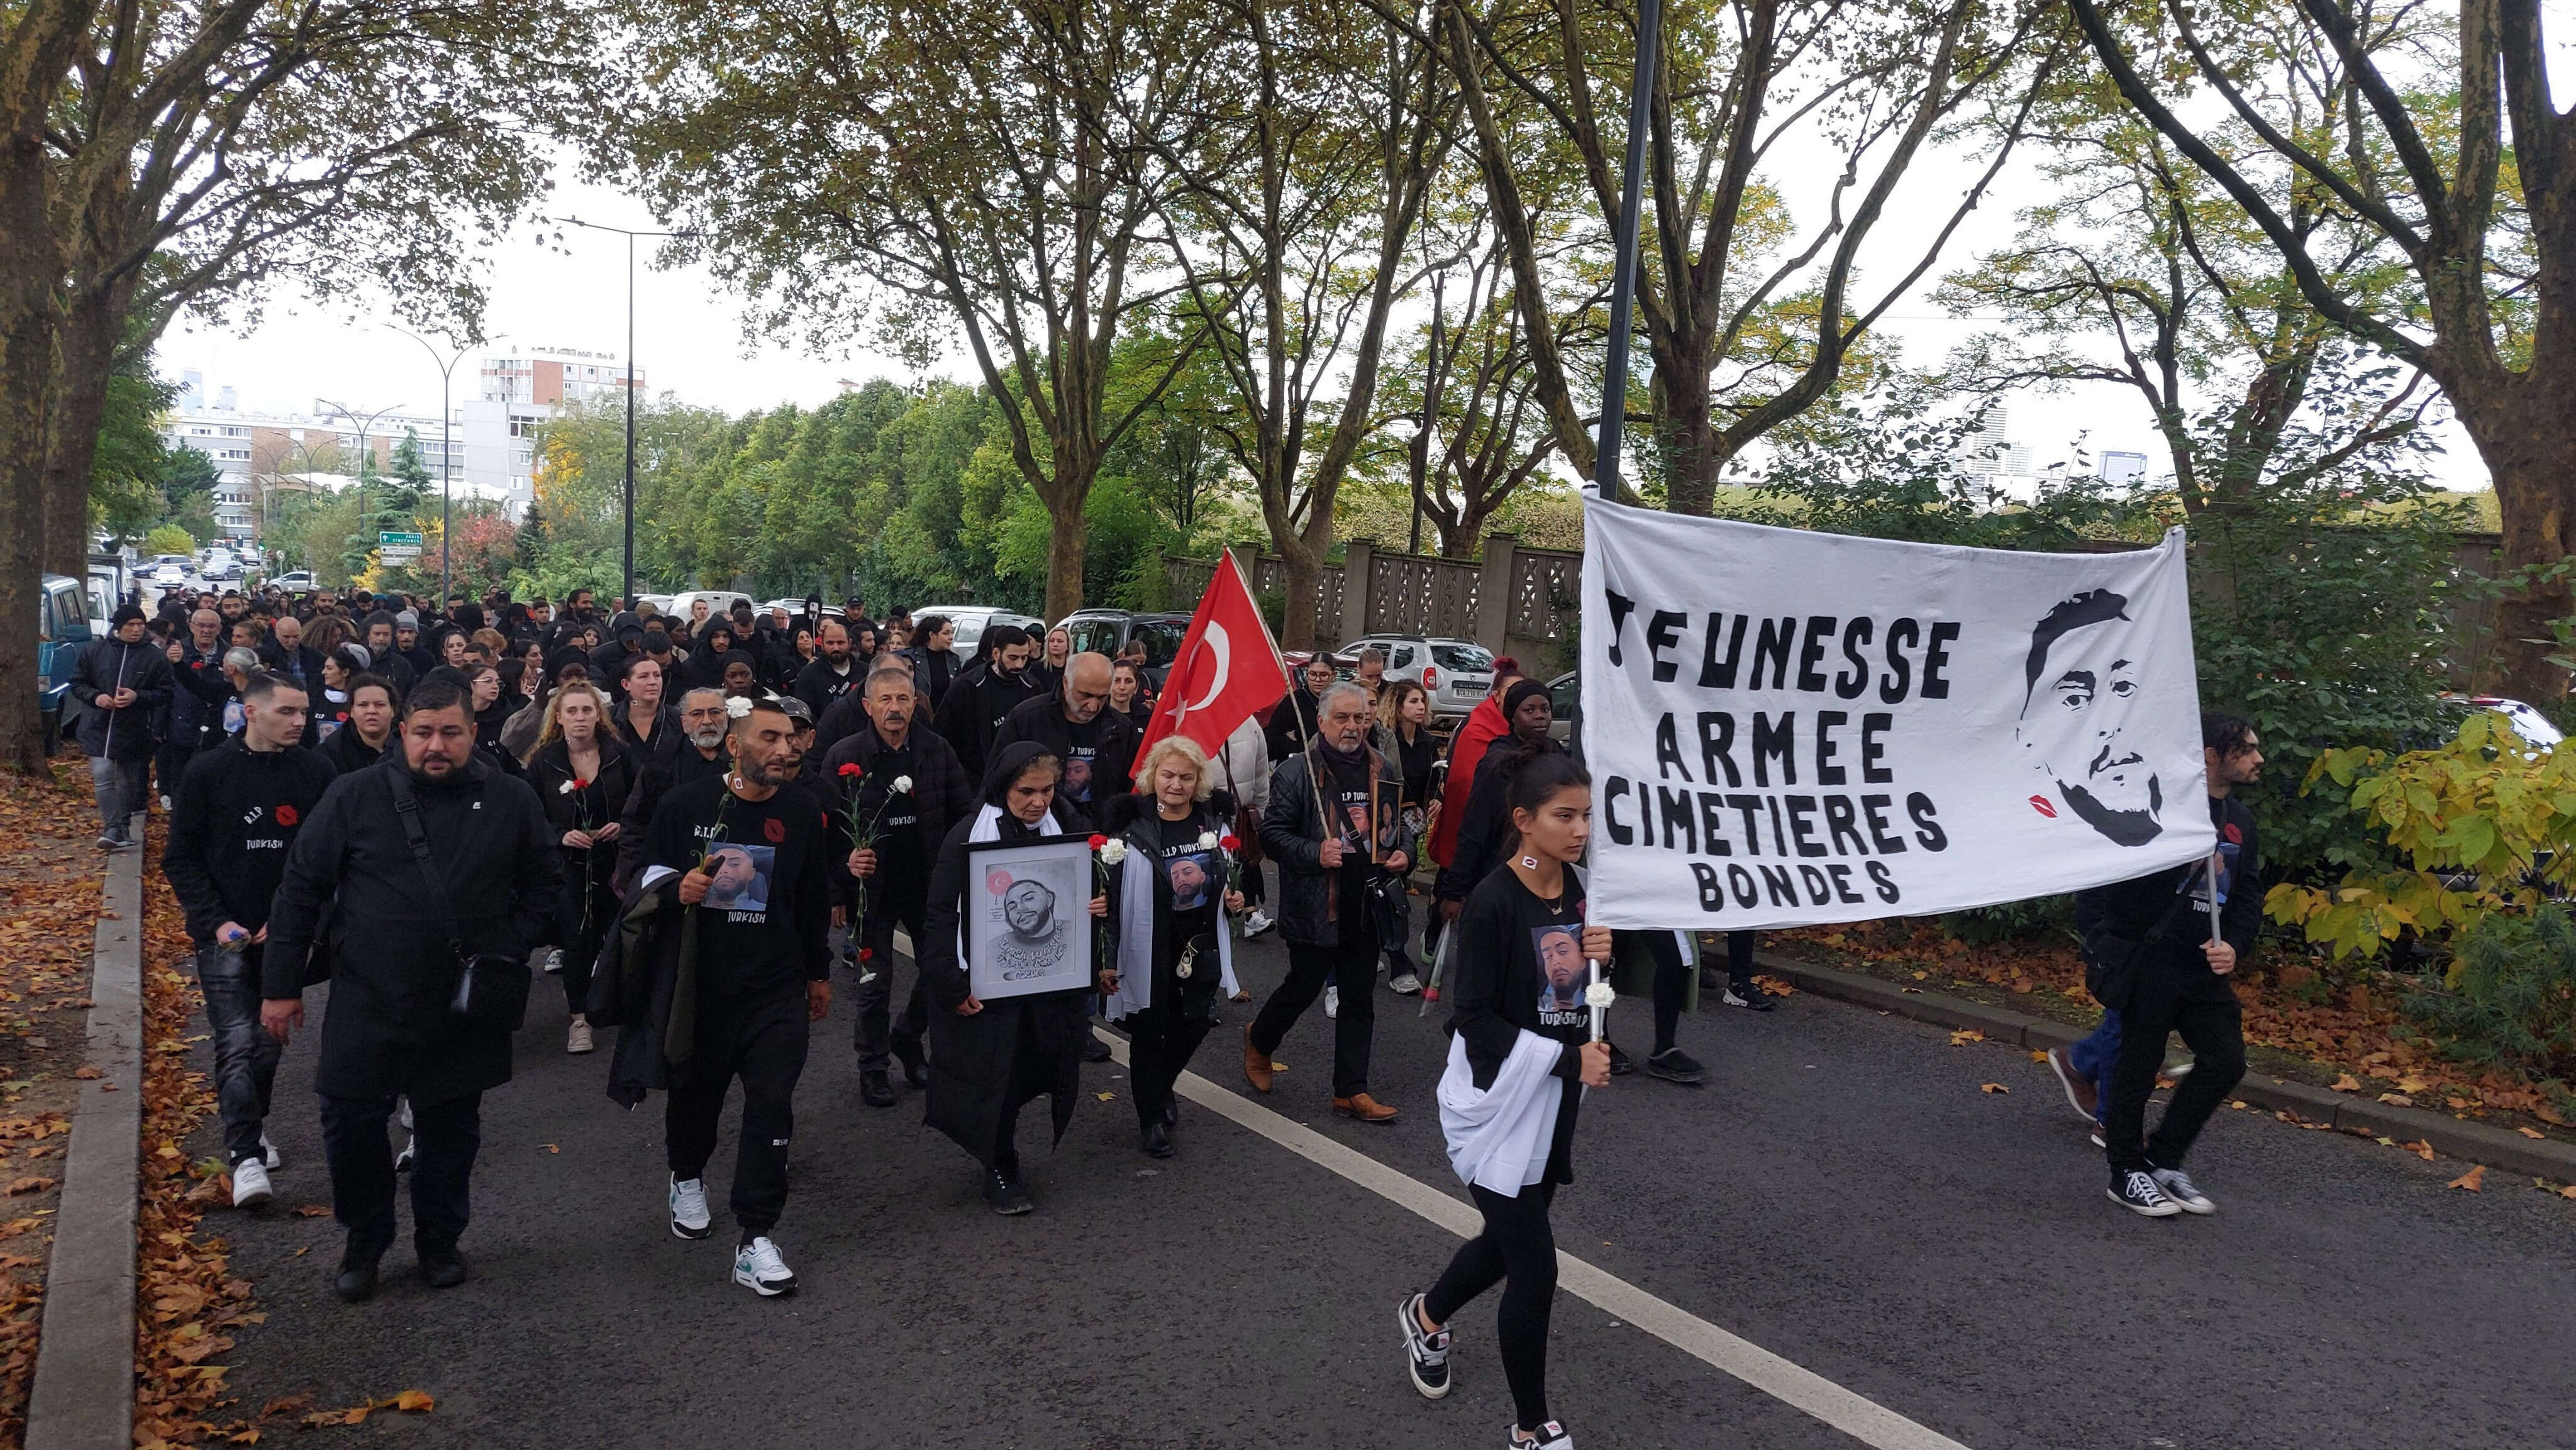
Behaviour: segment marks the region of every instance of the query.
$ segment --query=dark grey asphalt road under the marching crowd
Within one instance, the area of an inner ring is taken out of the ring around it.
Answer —
[[[1239,966],[1260,997],[1285,963],[1265,937]],[[518,1082],[484,1097],[477,1277],[448,1293],[417,1283],[404,1229],[374,1303],[330,1295],[340,1234],[289,1213],[330,1200],[309,1038],[289,1048],[278,1205],[209,1218],[268,1311],[227,1355],[242,1409],[425,1388],[433,1414],[330,1435],[546,1450],[1504,1437],[1492,1295],[1458,1319],[1445,1401],[1414,1396],[1394,1342],[1396,1298],[1437,1275],[1450,1234],[1206,1107],[1182,1107],[1177,1159],[1141,1156],[1115,1064],[1084,1069],[1054,1154],[1028,1146],[1043,1105],[1023,1115],[1038,1213],[997,1218],[914,1092],[858,1102],[848,976],[799,1089],[778,1229],[804,1288],[760,1301],[729,1277],[737,1110],[716,1236],[672,1239],[659,1100],[608,1102],[608,1051],[562,1053],[551,986]],[[1378,1002],[1373,1089],[1404,1120],[1332,1118],[1321,1010],[1262,1102],[1458,1195],[1432,1110],[1440,1015]],[[1195,1066],[1255,1097],[1236,1048],[1252,1004],[1224,1017]],[[1643,1004],[1613,1033],[1643,1048]],[[1814,997],[1703,1010],[1682,1043],[1708,1087],[1625,1077],[1587,1102],[1558,1247],[1922,1427],[1978,1450],[2571,1437],[2576,1203],[2504,1174],[2450,1190],[2463,1164],[2221,1113],[2192,1162],[2221,1213],[2143,1221],[2102,1198],[2099,1151],[2022,1051]],[[1551,1401],[1587,1450],[1855,1445],[1566,1293]]]

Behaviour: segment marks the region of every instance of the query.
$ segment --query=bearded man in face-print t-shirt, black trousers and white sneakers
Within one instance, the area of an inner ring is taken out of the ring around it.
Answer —
[[[788,1203],[788,1136],[806,1035],[832,1010],[832,899],[827,827],[814,796],[791,786],[799,767],[791,719],[778,701],[739,701],[734,767],[662,796],[644,845],[639,891],[665,881],[654,932],[693,932],[654,953],[672,981],[662,1030],[618,1033],[611,1097],[634,1105],[667,1087],[665,1154],[670,1231],[706,1239],[706,1162],[716,1154],[724,1095],[742,1079],[742,1133],[732,1213],[739,1226],[734,1283],[762,1298],[796,1293],[770,1231]]]

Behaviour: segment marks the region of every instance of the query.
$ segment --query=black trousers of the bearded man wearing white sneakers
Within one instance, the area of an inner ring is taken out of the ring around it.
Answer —
[[[742,1079],[742,1138],[734,1144],[729,1208],[744,1239],[775,1229],[788,1205],[788,1136],[796,1131],[804,1051],[804,984],[752,1002],[701,999],[698,1051],[670,1084],[662,1136],[672,1177],[688,1182],[706,1177],[706,1159],[716,1156],[724,1095]]]

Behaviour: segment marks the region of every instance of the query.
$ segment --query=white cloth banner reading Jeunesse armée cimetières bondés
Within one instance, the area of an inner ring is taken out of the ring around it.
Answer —
[[[2182,531],[2014,554],[1584,502],[1592,919],[1924,917],[2210,852]]]

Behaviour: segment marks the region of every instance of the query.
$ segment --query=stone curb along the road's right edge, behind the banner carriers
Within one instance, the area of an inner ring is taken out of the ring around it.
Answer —
[[[1965,997],[1906,989],[1857,971],[1808,966],[1772,953],[1754,953],[1754,966],[1801,992],[1814,992],[1816,997],[1875,1007],[1880,1012],[1896,1012],[1899,1017],[1914,1017],[1919,1022],[1940,1022],[1945,1028],[1976,1028],[1994,1043],[2045,1051],[2063,1048],[2084,1035],[2066,1022],[2050,1022],[2045,1017],[2030,1017],[2004,1007],[1986,1007],[1984,1002],[1968,1002]],[[2576,1182],[2576,1144],[2561,1144],[2555,1138],[2532,1141],[2506,1128],[2468,1123],[2463,1118],[2447,1118],[2421,1107],[2357,1100],[2347,1092],[2329,1092],[2324,1087],[2282,1082],[2277,1077],[2246,1074],[2246,1079],[2236,1084],[2233,1097],[2257,1107],[2290,1110],[2311,1123],[2370,1133],[2372,1138],[2396,1138],[2401,1144],[2421,1138],[2432,1144],[2437,1154],[2473,1164],[2545,1177],[2550,1182]]]

